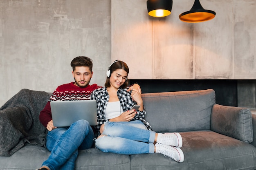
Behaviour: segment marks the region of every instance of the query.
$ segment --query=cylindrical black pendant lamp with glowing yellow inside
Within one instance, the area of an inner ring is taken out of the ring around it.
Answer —
[[[165,17],[171,14],[173,0],[147,0],[148,15]]]

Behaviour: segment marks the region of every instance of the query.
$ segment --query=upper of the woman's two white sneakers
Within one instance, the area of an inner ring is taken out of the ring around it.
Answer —
[[[182,147],[182,137],[180,133],[164,133],[158,142],[163,145],[175,146],[177,148]]]

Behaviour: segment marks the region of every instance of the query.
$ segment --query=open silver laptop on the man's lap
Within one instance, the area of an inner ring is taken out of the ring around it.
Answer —
[[[91,126],[97,125],[96,100],[52,101],[50,105],[56,127],[70,126],[81,119],[87,120]]]

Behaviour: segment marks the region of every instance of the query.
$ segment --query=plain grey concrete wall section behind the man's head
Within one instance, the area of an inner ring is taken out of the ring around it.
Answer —
[[[91,83],[103,86],[110,11],[110,0],[0,0],[0,106],[22,88],[53,92],[73,81],[76,56],[93,60]]]

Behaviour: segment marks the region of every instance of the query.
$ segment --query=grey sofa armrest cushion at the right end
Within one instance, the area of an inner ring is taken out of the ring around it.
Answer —
[[[211,130],[247,143],[253,141],[252,113],[248,108],[213,105]]]

